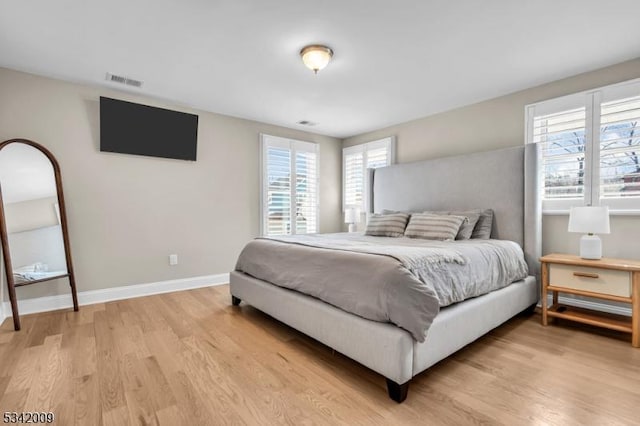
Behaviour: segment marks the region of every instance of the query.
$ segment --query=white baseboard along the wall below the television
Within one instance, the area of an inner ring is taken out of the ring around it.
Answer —
[[[122,287],[112,287],[100,290],[78,292],[78,304],[93,305],[95,303],[111,302],[114,300],[132,299],[135,297],[151,296],[153,294],[171,293],[174,291],[191,290],[201,287],[212,287],[229,283],[229,274],[206,275],[202,277],[183,278],[179,280],[160,281],[155,283],[134,284]],[[36,297],[18,300],[20,315],[38,312],[55,311],[71,308],[73,301],[71,293],[57,296]],[[11,304],[4,302],[0,306],[2,320],[11,315]],[[0,322],[1,323],[1,322]]]

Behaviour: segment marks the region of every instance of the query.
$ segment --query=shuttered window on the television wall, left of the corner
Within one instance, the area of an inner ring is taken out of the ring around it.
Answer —
[[[318,232],[318,144],[262,135],[263,235]]]

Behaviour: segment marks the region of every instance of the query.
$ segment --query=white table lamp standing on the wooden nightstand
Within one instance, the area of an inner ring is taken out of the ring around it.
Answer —
[[[569,213],[569,232],[582,232],[580,238],[580,257],[583,259],[601,259],[602,241],[594,234],[608,234],[609,207],[571,207]]]

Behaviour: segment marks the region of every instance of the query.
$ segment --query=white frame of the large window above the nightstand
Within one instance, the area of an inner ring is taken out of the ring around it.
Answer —
[[[585,90],[567,96],[548,99],[525,106],[525,144],[534,143],[535,117],[564,112],[573,108],[585,108],[585,160],[584,160],[584,196],[566,200],[542,200],[542,213],[545,215],[569,213],[572,206],[609,206],[611,214],[639,215],[640,197],[600,198],[600,124],[601,105],[603,103],[640,95],[640,78],[617,84]],[[544,182],[543,170],[538,171]],[[541,192],[544,194],[544,183]]]

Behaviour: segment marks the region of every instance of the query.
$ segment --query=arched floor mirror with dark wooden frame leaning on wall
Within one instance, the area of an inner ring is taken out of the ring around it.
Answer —
[[[36,142],[0,143],[0,237],[16,331],[16,287],[67,278],[78,310],[60,166]]]

